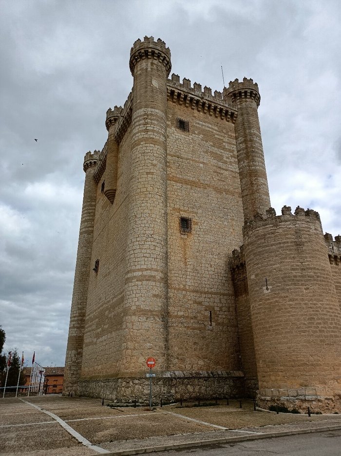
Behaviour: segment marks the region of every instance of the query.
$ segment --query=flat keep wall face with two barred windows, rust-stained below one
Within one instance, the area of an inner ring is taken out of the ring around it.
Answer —
[[[184,93],[195,92],[184,82]],[[234,125],[230,117],[205,112],[205,93],[194,87],[200,103],[186,106],[171,95],[167,105],[168,369],[239,370],[228,268],[243,225]],[[188,122],[189,131],[178,128],[177,119]],[[190,219],[190,232],[181,232],[180,217]]]

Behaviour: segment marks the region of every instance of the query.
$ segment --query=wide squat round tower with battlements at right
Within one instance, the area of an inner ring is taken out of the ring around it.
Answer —
[[[341,412],[341,311],[319,214],[284,206],[244,227],[261,407]]]

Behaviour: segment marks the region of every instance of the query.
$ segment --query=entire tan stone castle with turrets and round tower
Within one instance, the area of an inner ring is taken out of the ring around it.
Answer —
[[[153,356],[156,400],[341,412],[341,236],[270,207],[258,85],[168,79],[152,37],[130,69],[84,159],[63,393],[146,400]]]

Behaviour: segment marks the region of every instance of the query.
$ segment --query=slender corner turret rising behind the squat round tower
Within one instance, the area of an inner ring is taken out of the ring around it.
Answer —
[[[265,215],[270,207],[269,188],[257,108],[260,104],[258,85],[252,79],[238,79],[224,89],[224,100],[232,102],[238,116],[234,125],[237,157],[242,187],[244,220],[252,220],[257,213]]]

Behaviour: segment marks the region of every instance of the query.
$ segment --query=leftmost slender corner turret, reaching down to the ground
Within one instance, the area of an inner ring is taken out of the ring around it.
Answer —
[[[66,349],[63,394],[77,394],[78,380],[82,366],[83,339],[88,295],[89,273],[91,269],[91,251],[93,246],[96,183],[95,166],[99,152],[86,153],[83,169],[85,184],[83,193],[82,215],[76,259],[74,290],[72,294],[68,344]]]

